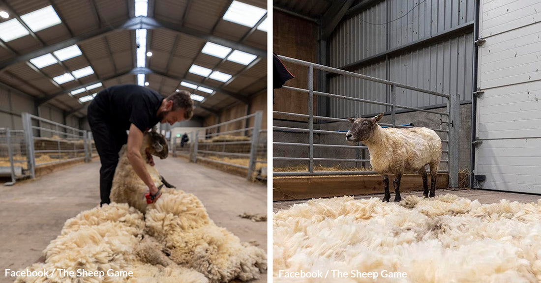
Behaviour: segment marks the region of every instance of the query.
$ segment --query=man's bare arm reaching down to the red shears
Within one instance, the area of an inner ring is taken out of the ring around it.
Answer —
[[[158,188],[154,185],[154,181],[150,177],[146,167],[144,167],[144,159],[140,152],[142,144],[143,132],[141,132],[134,124],[131,124],[130,133],[128,134],[128,160],[135,173],[137,173],[137,176],[139,176],[144,184],[148,186],[149,192],[151,194],[156,194]]]

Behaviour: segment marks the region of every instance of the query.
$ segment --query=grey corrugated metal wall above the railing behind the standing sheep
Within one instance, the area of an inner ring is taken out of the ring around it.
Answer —
[[[342,68],[388,50],[430,38],[438,33],[473,21],[473,0],[385,0],[342,21],[329,39],[329,64]],[[388,5],[388,11],[387,11]],[[387,16],[387,12],[389,16]],[[408,13],[409,12],[409,13]],[[389,38],[387,43],[387,27]],[[473,29],[472,29],[473,30]],[[447,38],[417,50],[362,66],[354,70],[368,76],[423,87],[444,93],[457,92],[471,100],[473,33]],[[387,70],[388,68],[388,70]],[[382,84],[337,76],[329,79],[329,91],[389,102]],[[329,99],[330,116],[352,117],[388,111],[385,106]],[[397,104],[431,106],[446,103],[443,98],[398,89]]]

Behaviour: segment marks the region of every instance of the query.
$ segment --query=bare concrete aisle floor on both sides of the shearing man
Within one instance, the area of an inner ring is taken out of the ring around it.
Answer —
[[[237,216],[267,212],[266,186],[182,158],[154,160],[169,183],[201,199],[216,225],[267,251],[267,223]],[[94,159],[12,187],[0,185],[0,271],[43,260],[42,251],[60,234],[65,220],[100,203],[99,169]],[[14,280],[0,275],[2,283]],[[267,274],[252,282],[267,282]]]

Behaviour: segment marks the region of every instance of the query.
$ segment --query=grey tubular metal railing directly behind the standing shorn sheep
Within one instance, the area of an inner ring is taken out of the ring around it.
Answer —
[[[273,176],[322,176],[322,175],[352,175],[352,174],[376,174],[374,171],[316,171],[314,172],[314,162],[315,161],[345,161],[345,162],[356,162],[356,163],[366,163],[370,162],[370,159],[359,159],[359,158],[316,158],[314,157],[314,147],[332,147],[332,148],[343,148],[343,149],[358,149],[366,150],[366,146],[353,146],[353,145],[335,145],[335,144],[314,144],[314,134],[338,134],[345,135],[344,132],[340,131],[328,131],[328,130],[314,130],[314,120],[323,120],[331,122],[348,122],[347,119],[343,118],[333,118],[333,117],[324,117],[314,115],[314,95],[322,97],[331,97],[336,99],[349,100],[356,103],[368,103],[375,105],[383,105],[391,108],[391,124],[378,123],[381,126],[397,127],[397,128],[408,128],[412,126],[406,125],[397,125],[396,123],[396,112],[397,109],[413,110],[419,112],[425,112],[430,114],[436,114],[440,117],[440,129],[432,129],[436,132],[446,134],[447,139],[442,140],[443,144],[447,145],[447,150],[443,150],[442,153],[447,156],[447,159],[441,160],[441,163],[447,164],[447,170],[440,170],[442,173],[449,173],[449,186],[457,187],[458,186],[458,129],[459,129],[459,97],[456,93],[451,93],[447,95],[445,93],[440,93],[437,91],[425,90],[420,87],[415,87],[411,85],[406,85],[403,83],[392,82],[391,80],[375,78],[371,76],[362,75],[360,73],[344,71],[336,68],[331,68],[329,66],[315,64],[295,58],[289,58],[285,56],[278,57],[283,62],[289,62],[296,65],[306,66],[308,68],[308,88],[301,89],[299,87],[292,86],[282,86],[283,89],[288,89],[294,93],[308,93],[308,109],[307,114],[300,113],[291,113],[291,112],[282,112],[282,111],[273,111],[273,114],[279,114],[280,116],[288,116],[293,118],[302,118],[307,119],[308,125],[307,128],[299,127],[284,127],[284,126],[273,126],[274,132],[289,132],[289,133],[307,133],[308,134],[308,143],[288,143],[285,141],[274,141],[273,145],[275,146],[298,146],[298,147],[308,147],[308,156],[307,157],[273,157],[274,160],[295,160],[295,161],[307,161],[308,170],[305,172],[273,172]],[[370,80],[372,82],[385,84],[390,87],[390,100],[391,103],[379,102],[374,100],[362,99],[357,97],[348,97],[343,95],[336,95],[333,93],[327,93],[322,91],[314,90],[314,69],[338,73],[339,75]],[[402,89],[418,91],[421,93],[426,93],[427,95],[434,95],[439,97],[444,97],[447,99],[447,111],[438,112],[434,110],[421,109],[418,107],[399,105],[397,104],[397,87]],[[446,119],[446,120],[445,120]],[[445,125],[445,129],[442,127]],[[276,135],[275,135],[276,136]],[[276,152],[276,151],[275,151]]]

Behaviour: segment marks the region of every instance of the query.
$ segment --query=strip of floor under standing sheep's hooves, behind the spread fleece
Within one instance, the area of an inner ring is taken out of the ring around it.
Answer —
[[[538,199],[541,199],[541,196],[536,196],[532,194],[523,194],[523,193],[509,193],[509,192],[495,192],[495,191],[483,191],[483,190],[470,190],[470,189],[442,189],[436,190],[436,195],[438,194],[456,194],[459,197],[468,198],[471,200],[478,199],[481,204],[492,204],[499,203],[500,199],[507,199],[511,201],[518,201],[520,203],[536,203]],[[402,198],[413,194],[415,196],[422,196],[423,191],[416,192],[404,192],[401,193]],[[355,196],[355,199],[359,198],[383,198],[383,194],[365,194],[362,196]],[[391,193],[391,199],[394,198],[394,193]],[[287,210],[289,207],[292,207],[294,204],[305,203],[307,200],[284,200],[284,201],[274,201],[273,203],[273,212],[278,212],[280,210]]]

